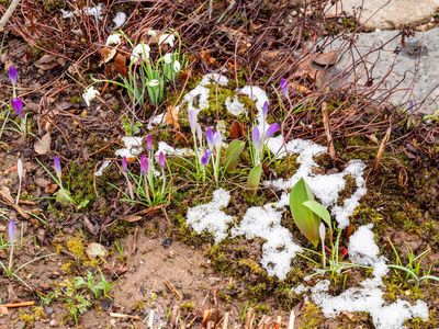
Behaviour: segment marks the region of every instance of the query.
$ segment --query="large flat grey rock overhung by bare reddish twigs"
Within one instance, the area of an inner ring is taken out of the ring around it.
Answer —
[[[357,94],[380,103],[390,101],[402,110],[413,100],[418,114],[439,114],[439,29],[405,37],[406,48],[398,34],[358,34],[352,50],[344,36],[329,44],[320,41],[325,53],[340,52],[338,63],[326,69],[331,87],[353,88]]]

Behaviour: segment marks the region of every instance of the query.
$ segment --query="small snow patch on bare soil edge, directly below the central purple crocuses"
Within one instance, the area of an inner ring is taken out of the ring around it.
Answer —
[[[228,223],[233,220],[232,216],[221,209],[227,206],[229,201],[230,192],[224,189],[214,191],[210,203],[188,209],[187,223],[198,232],[212,232],[215,242],[219,242],[227,237]]]

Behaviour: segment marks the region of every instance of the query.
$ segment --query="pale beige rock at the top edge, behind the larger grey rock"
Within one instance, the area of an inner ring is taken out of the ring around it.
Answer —
[[[349,16],[358,16],[360,24],[368,29],[394,30],[399,24],[423,24],[431,19],[439,10],[438,0],[339,0],[326,8],[327,16],[340,15],[346,12]],[[356,13],[356,14],[354,14]]]

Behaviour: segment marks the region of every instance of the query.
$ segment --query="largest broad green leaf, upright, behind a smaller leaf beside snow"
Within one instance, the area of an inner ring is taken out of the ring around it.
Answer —
[[[303,205],[306,201],[314,201],[314,195],[308,184],[306,184],[305,180],[302,178],[291,190],[291,214],[301,232],[314,247],[317,247],[319,241],[318,227],[320,225],[320,218],[307,206]]]

